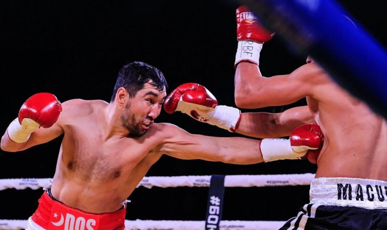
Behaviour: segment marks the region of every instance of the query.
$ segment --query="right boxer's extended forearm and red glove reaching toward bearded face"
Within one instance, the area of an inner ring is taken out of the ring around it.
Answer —
[[[195,120],[255,138],[289,136],[298,126],[316,123],[307,106],[283,113],[242,113],[237,108],[218,105],[204,86],[186,83],[173,90],[164,102],[167,113],[181,111]]]

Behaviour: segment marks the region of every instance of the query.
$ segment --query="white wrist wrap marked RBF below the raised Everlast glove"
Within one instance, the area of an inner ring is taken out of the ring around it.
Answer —
[[[262,49],[261,43],[242,40],[238,42],[238,49],[235,55],[234,67],[242,61],[248,61],[259,66],[259,54]]]

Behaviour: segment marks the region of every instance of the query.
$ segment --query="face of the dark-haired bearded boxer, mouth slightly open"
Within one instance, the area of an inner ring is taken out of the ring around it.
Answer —
[[[160,114],[165,97],[165,89],[160,92],[146,83],[135,97],[129,98],[121,113],[121,124],[130,136],[141,137],[146,133]]]

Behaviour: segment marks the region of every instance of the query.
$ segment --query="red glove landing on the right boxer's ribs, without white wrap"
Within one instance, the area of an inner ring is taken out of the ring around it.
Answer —
[[[293,152],[301,158],[307,158],[314,164],[317,162],[323,143],[323,132],[320,126],[315,124],[302,125],[295,128],[290,134],[290,145]]]

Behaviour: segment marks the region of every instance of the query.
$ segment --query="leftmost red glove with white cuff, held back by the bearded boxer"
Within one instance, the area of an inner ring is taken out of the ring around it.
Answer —
[[[19,116],[8,126],[8,137],[16,143],[26,142],[40,127],[51,127],[61,111],[62,106],[55,95],[36,93],[23,103]]]

